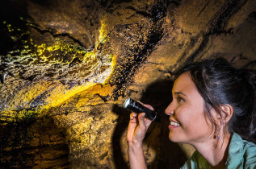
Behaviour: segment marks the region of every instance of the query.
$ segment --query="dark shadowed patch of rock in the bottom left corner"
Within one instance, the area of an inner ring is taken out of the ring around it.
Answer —
[[[0,126],[0,168],[69,168],[65,130],[52,117]]]

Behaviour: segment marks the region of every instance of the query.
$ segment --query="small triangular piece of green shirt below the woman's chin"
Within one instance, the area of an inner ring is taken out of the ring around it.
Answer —
[[[193,153],[190,159],[181,167],[182,169],[194,169],[194,168],[208,168],[209,164],[197,150]]]

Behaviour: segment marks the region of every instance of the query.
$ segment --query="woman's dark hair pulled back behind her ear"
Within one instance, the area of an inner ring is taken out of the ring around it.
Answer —
[[[227,125],[231,134],[237,133],[250,142],[256,141],[256,72],[233,68],[222,57],[186,64],[175,73],[174,80],[189,72],[200,95],[204,98],[207,117],[216,127],[210,113],[213,108],[222,116],[220,105],[233,107],[233,116]]]

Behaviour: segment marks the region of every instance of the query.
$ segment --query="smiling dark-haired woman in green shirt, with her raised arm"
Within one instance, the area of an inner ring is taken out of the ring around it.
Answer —
[[[178,70],[173,101],[166,108],[169,138],[196,149],[182,168],[256,168],[255,88],[255,71],[233,68],[224,58]],[[145,113],[131,113],[127,134],[131,168],[146,168],[142,141],[150,124]]]

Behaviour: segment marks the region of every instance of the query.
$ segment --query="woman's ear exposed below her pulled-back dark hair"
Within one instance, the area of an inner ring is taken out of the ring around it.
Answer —
[[[218,114],[217,122],[220,122],[220,124],[229,122],[230,118],[233,115],[233,107],[229,104],[220,105],[221,109],[221,116]]]

